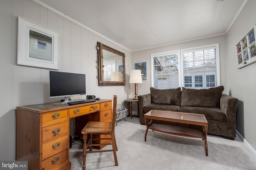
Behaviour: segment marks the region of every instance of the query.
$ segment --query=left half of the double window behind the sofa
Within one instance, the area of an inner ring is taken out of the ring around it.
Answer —
[[[179,51],[151,55],[152,87],[157,89],[179,87]]]

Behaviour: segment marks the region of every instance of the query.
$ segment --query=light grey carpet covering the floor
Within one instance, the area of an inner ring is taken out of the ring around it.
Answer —
[[[202,139],[148,130],[145,142],[146,126],[137,117],[126,120],[115,127],[118,166],[113,152],[88,153],[86,170],[256,170],[256,157],[239,137],[208,135],[206,156]],[[72,170],[82,169],[82,146],[72,145],[70,162]]]

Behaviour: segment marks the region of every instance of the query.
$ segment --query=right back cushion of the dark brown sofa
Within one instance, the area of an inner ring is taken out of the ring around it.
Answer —
[[[182,87],[181,106],[220,108],[223,86],[208,89],[189,89]]]

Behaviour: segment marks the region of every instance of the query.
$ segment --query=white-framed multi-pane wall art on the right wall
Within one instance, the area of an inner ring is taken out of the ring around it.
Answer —
[[[256,62],[255,31],[256,25],[236,44],[237,68]]]

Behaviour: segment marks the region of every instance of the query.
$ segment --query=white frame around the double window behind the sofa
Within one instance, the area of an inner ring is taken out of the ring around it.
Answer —
[[[211,44],[211,45],[203,45],[199,47],[192,47],[187,49],[180,49],[180,50],[174,50],[174,51],[166,51],[161,53],[154,53],[151,54],[151,86],[154,87],[154,57],[160,57],[164,55],[172,55],[178,53],[178,76],[179,76],[179,87],[185,87],[184,86],[184,68],[183,68],[183,53],[184,52],[190,52],[190,51],[200,51],[200,50],[206,50],[206,49],[216,49],[216,86],[220,86],[220,57],[219,57],[219,44]],[[200,76],[202,74],[191,74],[192,76],[192,88],[194,88],[194,76]],[[206,79],[204,79],[204,76],[206,75],[212,75],[209,74],[203,74],[203,88],[211,88],[206,87]],[[190,75],[188,75],[190,76]],[[198,88],[200,89],[200,88]]]

